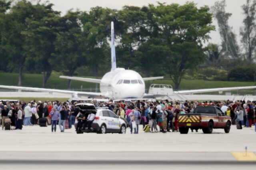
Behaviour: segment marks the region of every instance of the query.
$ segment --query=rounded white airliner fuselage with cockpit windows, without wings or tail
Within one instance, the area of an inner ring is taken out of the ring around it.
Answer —
[[[142,98],[145,82],[136,71],[117,68],[102,77],[100,92],[113,99]]]

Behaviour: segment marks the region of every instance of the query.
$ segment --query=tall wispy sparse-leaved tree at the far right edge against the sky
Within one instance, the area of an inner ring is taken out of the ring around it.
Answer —
[[[246,50],[246,58],[254,58],[256,47],[256,0],[246,0],[246,4],[242,6],[245,18],[244,26],[240,28],[241,42]]]

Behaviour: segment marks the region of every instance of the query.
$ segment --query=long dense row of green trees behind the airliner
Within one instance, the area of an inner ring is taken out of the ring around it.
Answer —
[[[206,59],[203,43],[214,30],[207,6],[187,2],[122,10],[95,7],[61,16],[54,4],[0,0],[0,70],[73,76],[82,66],[102,76],[110,69],[110,22],[114,22],[118,67],[144,76],[170,75],[178,89],[186,70]],[[70,82],[71,83],[71,82]],[[70,87],[69,83],[69,87]]]

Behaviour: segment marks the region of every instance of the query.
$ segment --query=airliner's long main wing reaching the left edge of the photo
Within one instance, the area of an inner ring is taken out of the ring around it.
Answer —
[[[103,93],[94,93],[94,92],[83,92],[83,91],[71,91],[71,90],[59,90],[59,89],[44,89],[37,87],[20,87],[20,86],[6,86],[0,85],[0,88],[4,89],[17,89],[17,90],[25,90],[25,91],[40,91],[40,92],[49,92],[49,93],[66,93],[73,96],[82,95],[85,97],[104,97]]]

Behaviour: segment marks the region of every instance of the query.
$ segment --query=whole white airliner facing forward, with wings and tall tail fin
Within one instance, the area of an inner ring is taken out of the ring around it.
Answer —
[[[110,99],[141,99],[143,97],[153,96],[151,94],[145,94],[144,81],[164,78],[164,77],[142,78],[141,75],[136,71],[126,70],[124,68],[116,68],[116,52],[115,52],[113,22],[111,22],[111,63],[112,63],[111,71],[106,73],[102,77],[102,79],[60,76],[60,78],[63,78],[63,79],[99,83],[100,93],[59,90],[59,89],[44,89],[44,88],[36,88],[36,87],[6,86],[6,85],[0,85],[0,88],[18,89],[18,90],[25,90],[25,91],[41,91],[41,92],[50,92],[50,93],[52,92],[67,93],[72,95],[72,97],[108,97]],[[172,93],[186,95],[186,94],[194,94],[194,93],[206,93],[206,92],[214,92],[214,91],[222,92],[222,91],[229,91],[229,90],[255,89],[255,88],[256,86],[225,87],[225,88],[214,88],[214,89],[172,91]],[[169,95],[172,95],[172,94],[169,94]]]

